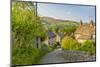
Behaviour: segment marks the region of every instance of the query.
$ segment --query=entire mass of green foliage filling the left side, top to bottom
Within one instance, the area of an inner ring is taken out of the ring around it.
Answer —
[[[38,64],[48,50],[36,48],[34,42],[45,35],[33,3],[12,2],[12,64]]]

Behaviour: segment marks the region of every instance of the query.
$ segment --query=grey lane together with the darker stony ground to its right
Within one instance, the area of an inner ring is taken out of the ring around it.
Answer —
[[[95,61],[95,56],[89,56],[87,53],[82,51],[61,50],[59,48],[48,53],[41,60],[42,64],[76,61]]]

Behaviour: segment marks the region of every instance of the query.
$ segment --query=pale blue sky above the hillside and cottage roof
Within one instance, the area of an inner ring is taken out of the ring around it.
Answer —
[[[38,3],[37,11],[41,17],[46,16],[73,21],[82,20],[83,22],[89,22],[92,19],[95,22],[95,6]]]

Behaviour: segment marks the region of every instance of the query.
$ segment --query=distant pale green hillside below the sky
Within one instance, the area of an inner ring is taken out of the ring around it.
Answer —
[[[78,26],[79,23],[76,21],[72,21],[72,20],[61,20],[61,19],[55,19],[55,18],[51,18],[51,17],[41,17],[41,20],[43,22],[43,24],[46,27],[65,27],[65,26]]]

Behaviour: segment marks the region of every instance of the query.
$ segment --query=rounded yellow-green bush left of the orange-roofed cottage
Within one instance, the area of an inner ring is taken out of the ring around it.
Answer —
[[[65,50],[77,50],[80,47],[80,44],[75,39],[65,36],[62,39],[61,47]]]

